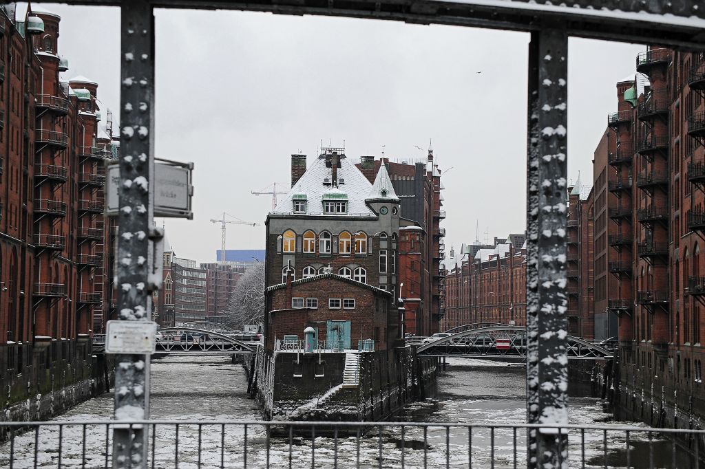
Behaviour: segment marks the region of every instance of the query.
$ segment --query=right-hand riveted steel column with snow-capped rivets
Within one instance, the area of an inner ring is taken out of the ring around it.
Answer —
[[[568,35],[541,27],[529,44],[527,418],[568,423],[565,182]],[[529,430],[529,468],[568,468],[568,434]]]

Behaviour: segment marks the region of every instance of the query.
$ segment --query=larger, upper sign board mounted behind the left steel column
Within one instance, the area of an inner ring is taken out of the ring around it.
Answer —
[[[156,159],[154,163],[154,216],[188,218],[192,220],[191,197],[193,163]],[[108,182],[105,190],[106,215],[117,215],[119,208],[118,187],[120,186],[120,165],[108,165]],[[132,184],[138,182],[133,181]]]

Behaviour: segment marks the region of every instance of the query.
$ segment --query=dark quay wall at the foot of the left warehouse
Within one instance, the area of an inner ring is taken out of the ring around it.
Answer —
[[[0,344],[0,367],[4,422],[49,420],[114,382],[111,358],[92,355],[88,338]]]

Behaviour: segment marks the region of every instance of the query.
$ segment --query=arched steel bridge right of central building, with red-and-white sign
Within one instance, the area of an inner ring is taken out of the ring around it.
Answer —
[[[527,356],[527,328],[498,323],[476,323],[446,331],[448,337],[420,345],[416,353],[424,356],[463,356],[496,361],[521,362]],[[568,336],[568,359],[609,360],[611,348],[579,337]]]

